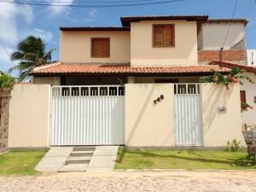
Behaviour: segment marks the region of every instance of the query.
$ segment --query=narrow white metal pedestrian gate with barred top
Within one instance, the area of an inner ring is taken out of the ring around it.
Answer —
[[[202,146],[200,84],[174,84],[174,108],[176,145]]]

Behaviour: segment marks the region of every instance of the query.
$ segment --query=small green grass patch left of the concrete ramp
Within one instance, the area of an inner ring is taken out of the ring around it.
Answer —
[[[21,176],[34,175],[38,162],[44,157],[46,151],[9,151],[0,154],[0,175]]]

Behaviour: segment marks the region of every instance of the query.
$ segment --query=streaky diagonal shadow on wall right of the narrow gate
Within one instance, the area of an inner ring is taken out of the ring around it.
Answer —
[[[210,86],[210,84],[203,85],[203,88],[206,89],[207,86]],[[202,118],[205,133],[212,127],[212,123],[218,115],[224,115],[227,113],[227,110],[229,110],[229,108],[227,108],[224,111],[219,111],[218,107],[226,107],[233,89],[233,86],[230,86],[229,90],[227,90],[224,85],[211,84],[211,88],[207,90],[207,94],[204,94],[202,101]]]

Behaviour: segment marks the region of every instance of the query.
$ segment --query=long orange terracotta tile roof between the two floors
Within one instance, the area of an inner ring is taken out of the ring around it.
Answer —
[[[116,63],[61,63],[46,65],[43,67],[35,67],[32,70],[32,75],[54,75],[54,74],[208,74],[212,70],[225,73],[229,72],[229,68],[210,66],[210,65],[195,65],[195,66],[170,66],[170,67],[131,67],[130,64]]]

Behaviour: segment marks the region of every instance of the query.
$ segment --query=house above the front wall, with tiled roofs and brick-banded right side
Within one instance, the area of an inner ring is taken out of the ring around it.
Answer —
[[[59,62],[35,68],[33,83],[198,82],[211,73],[206,64],[219,60],[228,27],[222,61],[246,61],[247,20],[189,15],[121,17],[121,22],[120,27],[60,27]]]

